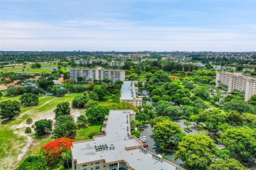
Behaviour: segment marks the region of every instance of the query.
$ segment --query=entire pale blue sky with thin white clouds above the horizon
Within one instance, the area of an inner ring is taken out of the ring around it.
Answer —
[[[0,0],[0,50],[256,50],[255,0]]]

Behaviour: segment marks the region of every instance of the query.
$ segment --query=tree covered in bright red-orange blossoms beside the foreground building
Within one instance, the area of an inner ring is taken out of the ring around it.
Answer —
[[[43,152],[47,162],[52,162],[54,159],[60,158],[62,152],[70,150],[75,140],[69,138],[60,138],[53,142],[47,143],[43,147]]]

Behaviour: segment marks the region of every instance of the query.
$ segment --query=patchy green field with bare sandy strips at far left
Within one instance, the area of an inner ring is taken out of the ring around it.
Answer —
[[[24,107],[21,109],[21,114],[12,120],[3,121],[0,124],[0,169],[13,169],[18,166],[19,161],[25,155],[36,155],[40,152],[45,143],[53,141],[51,137],[36,137],[33,133],[25,134],[27,126],[26,119],[28,117],[33,119],[33,122],[43,118],[54,120],[55,107],[63,102],[71,102],[75,96],[80,94],[67,94],[63,97],[54,96],[40,96],[39,104],[33,107]],[[7,100],[9,97],[1,99]],[[18,100],[19,96],[10,97],[12,100]],[[71,115],[74,117],[84,111],[77,111],[78,109],[71,109]]]

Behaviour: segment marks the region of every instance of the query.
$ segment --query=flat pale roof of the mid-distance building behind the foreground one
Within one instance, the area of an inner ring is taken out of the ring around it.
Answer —
[[[136,87],[134,81],[124,81],[121,87],[120,99],[132,100],[136,99]]]

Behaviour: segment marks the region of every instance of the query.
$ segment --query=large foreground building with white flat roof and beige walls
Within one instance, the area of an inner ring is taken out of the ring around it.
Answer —
[[[142,143],[131,135],[130,122],[134,120],[133,110],[110,110],[102,127],[102,135],[73,142],[72,169],[177,169],[177,165],[144,149]]]

